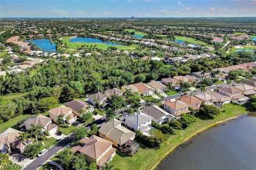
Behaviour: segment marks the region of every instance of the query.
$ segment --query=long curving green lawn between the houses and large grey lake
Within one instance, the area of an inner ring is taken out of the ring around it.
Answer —
[[[199,130],[218,121],[247,113],[245,107],[239,105],[226,104],[223,106],[223,109],[225,109],[226,112],[221,112],[214,120],[203,121],[197,118],[196,122],[188,126],[187,129],[175,130],[175,134],[171,135],[166,142],[162,143],[159,149],[141,148],[140,151],[132,157],[121,157],[116,154],[109,165],[114,165],[116,168],[120,169],[127,169],[127,167],[131,170],[151,169],[163,159],[165,154],[168,154],[174,147],[180,145],[186,139],[189,139],[191,135],[197,133]]]

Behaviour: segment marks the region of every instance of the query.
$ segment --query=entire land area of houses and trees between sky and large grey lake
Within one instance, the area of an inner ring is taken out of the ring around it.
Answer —
[[[38,20],[4,19],[1,28],[6,165],[151,169],[205,126],[256,110],[248,25]]]

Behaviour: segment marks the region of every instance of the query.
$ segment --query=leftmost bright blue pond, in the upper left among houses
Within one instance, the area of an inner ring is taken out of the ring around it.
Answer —
[[[56,52],[56,44],[51,43],[50,39],[26,39],[26,43],[34,43],[37,47],[46,52]]]

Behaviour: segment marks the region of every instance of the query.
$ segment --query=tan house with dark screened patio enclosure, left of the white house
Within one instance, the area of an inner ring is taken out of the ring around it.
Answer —
[[[103,123],[99,131],[99,136],[113,142],[113,145],[121,149],[128,155],[133,155],[139,150],[139,144],[134,142],[135,132],[124,128],[121,121],[115,118],[107,123]]]

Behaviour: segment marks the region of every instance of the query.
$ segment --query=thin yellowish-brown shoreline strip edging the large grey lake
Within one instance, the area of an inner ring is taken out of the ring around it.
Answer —
[[[173,154],[175,154],[175,150],[179,150],[179,148],[183,148],[184,146],[187,146],[189,145],[190,143],[190,140],[192,138],[194,138],[196,135],[198,135],[199,133],[209,129],[209,128],[212,128],[213,126],[215,125],[218,125],[220,123],[224,123],[224,122],[227,122],[227,121],[230,121],[230,120],[234,120],[235,118],[238,118],[238,117],[241,117],[241,116],[244,116],[246,114],[249,114],[250,112],[248,113],[244,113],[244,114],[241,114],[241,115],[237,115],[237,116],[232,116],[232,117],[229,117],[229,118],[226,118],[225,120],[221,120],[221,121],[217,121],[215,123],[212,123],[210,125],[207,125],[205,126],[204,128],[198,130],[197,132],[191,134],[189,137],[185,138],[184,140],[182,140],[182,142],[178,143],[177,145],[173,146],[168,152],[166,152],[162,157],[161,159],[159,159],[154,165],[153,167],[150,168],[150,170],[158,170],[158,169],[161,169],[161,163],[163,162],[165,164],[165,160],[166,159],[169,159],[170,157],[173,156]]]

